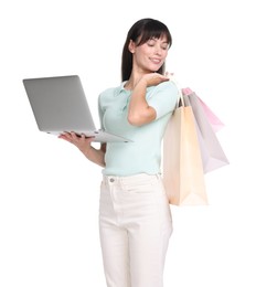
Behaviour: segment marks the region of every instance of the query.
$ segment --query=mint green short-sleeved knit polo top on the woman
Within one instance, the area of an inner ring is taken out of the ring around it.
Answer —
[[[161,166],[161,141],[168,120],[178,100],[178,89],[172,82],[147,88],[146,99],[157,118],[137,127],[127,120],[131,92],[120,86],[104,91],[98,98],[102,128],[128,138],[132,142],[108,142],[105,155],[107,176],[157,174]]]

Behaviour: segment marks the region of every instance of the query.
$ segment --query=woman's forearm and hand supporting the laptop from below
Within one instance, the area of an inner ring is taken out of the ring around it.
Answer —
[[[90,146],[93,138],[86,138],[85,135],[79,137],[75,132],[64,132],[58,138],[76,146],[89,161],[105,167],[106,144],[102,144],[99,149],[95,149]]]

